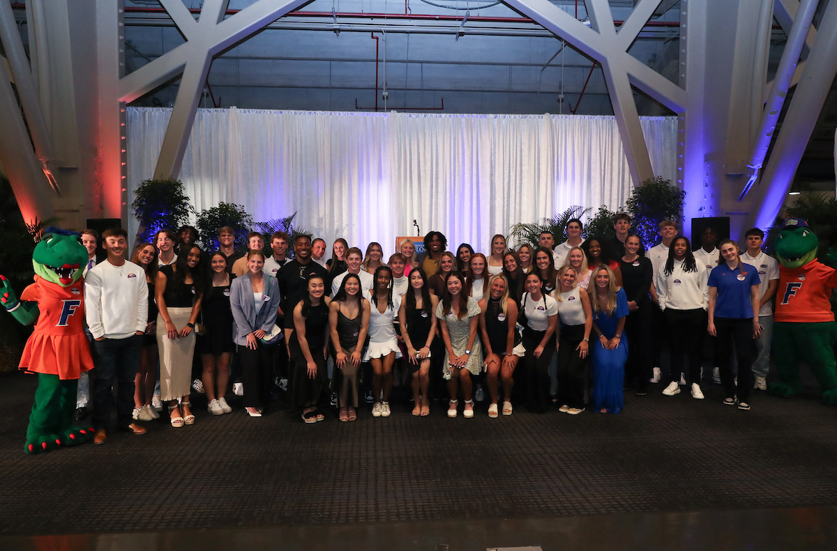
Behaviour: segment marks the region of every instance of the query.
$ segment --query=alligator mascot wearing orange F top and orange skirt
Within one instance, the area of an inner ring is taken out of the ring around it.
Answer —
[[[92,427],[73,426],[76,386],[82,372],[93,369],[93,360],[85,336],[81,277],[87,250],[79,234],[47,228],[32,263],[35,283],[23,289],[20,300],[0,276],[0,303],[21,324],[37,322],[20,369],[38,374],[23,451],[39,453],[93,437]]]

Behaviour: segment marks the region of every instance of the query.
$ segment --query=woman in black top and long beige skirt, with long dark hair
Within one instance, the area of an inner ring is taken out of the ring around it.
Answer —
[[[160,394],[168,401],[172,426],[192,425],[189,409],[194,327],[201,311],[204,281],[200,273],[201,249],[193,245],[175,263],[157,270],[157,346],[160,349]],[[180,400],[178,406],[177,400]]]

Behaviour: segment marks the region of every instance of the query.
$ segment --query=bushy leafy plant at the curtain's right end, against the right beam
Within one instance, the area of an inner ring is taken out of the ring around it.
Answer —
[[[664,220],[680,222],[686,191],[656,176],[634,187],[634,191],[625,202],[625,209],[633,218],[634,231],[646,245],[654,245],[661,240],[658,224]]]

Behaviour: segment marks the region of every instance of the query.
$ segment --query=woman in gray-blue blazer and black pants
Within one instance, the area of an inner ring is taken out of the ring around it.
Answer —
[[[229,292],[233,310],[233,340],[241,358],[244,409],[260,417],[270,403],[272,355],[260,339],[270,333],[279,309],[279,282],[262,272],[264,254],[247,253],[247,273],[235,278]]]

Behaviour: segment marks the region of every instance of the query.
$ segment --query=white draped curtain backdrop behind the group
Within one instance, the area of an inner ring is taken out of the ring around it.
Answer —
[[[153,176],[171,110],[127,110],[129,199]],[[655,174],[676,178],[675,117],[641,120]],[[438,230],[486,251],[516,222],[624,205],[632,184],[614,117],[198,110],[180,179],[198,212],[243,205],[366,249]],[[131,218],[129,230],[136,232]]]

